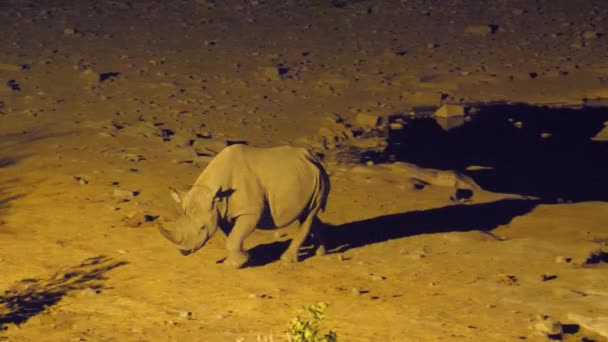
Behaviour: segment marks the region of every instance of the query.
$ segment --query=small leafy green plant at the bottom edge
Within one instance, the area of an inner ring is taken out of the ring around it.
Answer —
[[[291,321],[288,330],[290,342],[337,342],[338,336],[336,332],[330,330],[326,334],[321,335],[319,325],[325,318],[325,309],[327,303],[317,303],[304,307],[300,310],[296,318]],[[307,312],[309,319],[302,318],[303,312]]]

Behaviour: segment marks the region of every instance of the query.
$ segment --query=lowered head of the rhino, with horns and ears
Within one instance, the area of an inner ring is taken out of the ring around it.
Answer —
[[[218,203],[222,191],[196,186],[187,193],[171,189],[171,196],[179,205],[174,222],[159,224],[158,230],[167,240],[177,245],[182,255],[196,252],[217,232],[220,220]]]

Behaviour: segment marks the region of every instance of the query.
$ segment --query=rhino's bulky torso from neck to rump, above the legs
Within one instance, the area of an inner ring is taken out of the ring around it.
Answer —
[[[324,208],[329,178],[306,149],[232,145],[211,160],[188,199],[197,201],[202,189],[218,188],[235,190],[230,195],[228,219],[268,209],[274,224],[282,227],[314,207]]]

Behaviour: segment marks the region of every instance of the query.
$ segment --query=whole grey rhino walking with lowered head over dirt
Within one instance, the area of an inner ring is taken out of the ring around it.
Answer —
[[[240,268],[248,260],[243,241],[258,228],[280,228],[296,220],[300,230],[281,256],[298,261],[300,246],[313,230],[317,255],[325,253],[318,231],[329,177],[321,162],[303,148],[231,145],[211,160],[190,191],[173,197],[183,212],[158,228],[183,255],[201,248],[218,228],[227,234],[226,263]]]

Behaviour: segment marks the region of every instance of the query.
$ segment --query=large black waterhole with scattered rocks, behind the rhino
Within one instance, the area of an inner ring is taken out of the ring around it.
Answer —
[[[389,147],[376,161],[457,170],[489,191],[537,196],[544,203],[608,201],[608,142],[591,140],[608,121],[606,108],[479,108],[450,130],[432,118],[401,117],[406,124],[389,133]],[[464,171],[471,165],[492,169]]]

